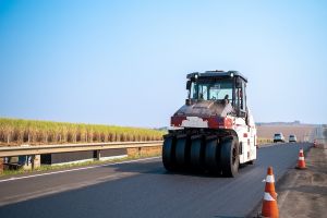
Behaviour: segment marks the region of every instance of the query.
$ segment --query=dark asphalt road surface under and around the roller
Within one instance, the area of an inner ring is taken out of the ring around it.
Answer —
[[[0,217],[246,217],[264,195],[274,167],[278,182],[298,161],[299,148],[258,149],[237,178],[168,173],[160,158],[69,172],[0,179]]]

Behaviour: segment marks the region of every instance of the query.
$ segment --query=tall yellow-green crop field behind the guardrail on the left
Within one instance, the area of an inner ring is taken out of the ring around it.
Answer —
[[[165,133],[142,128],[0,118],[0,145],[158,141]]]

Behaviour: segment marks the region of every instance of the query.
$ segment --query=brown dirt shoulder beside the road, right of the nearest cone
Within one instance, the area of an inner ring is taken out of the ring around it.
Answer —
[[[276,182],[279,217],[325,217],[327,205],[327,145],[305,155],[307,169],[290,169]],[[264,191],[263,191],[264,192]],[[249,217],[261,217],[262,203]]]

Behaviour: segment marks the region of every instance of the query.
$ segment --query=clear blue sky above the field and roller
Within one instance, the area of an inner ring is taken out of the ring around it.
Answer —
[[[0,117],[165,126],[238,70],[258,122],[327,123],[326,1],[0,0]]]

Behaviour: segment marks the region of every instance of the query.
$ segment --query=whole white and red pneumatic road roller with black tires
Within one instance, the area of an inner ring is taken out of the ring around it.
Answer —
[[[187,98],[165,135],[167,170],[208,171],[234,177],[256,159],[256,129],[246,105],[247,80],[237,71],[186,76]]]

